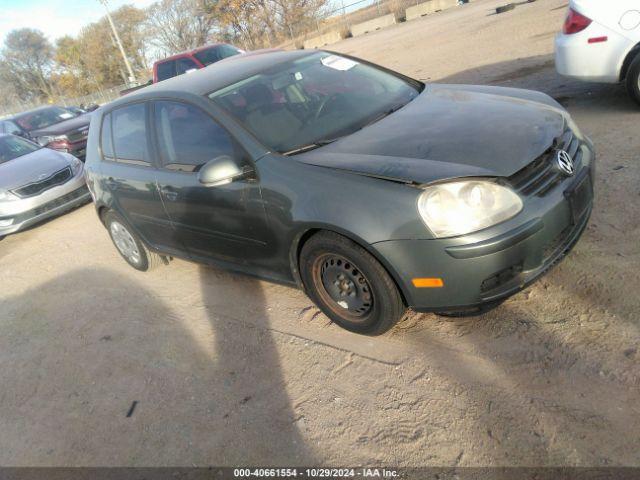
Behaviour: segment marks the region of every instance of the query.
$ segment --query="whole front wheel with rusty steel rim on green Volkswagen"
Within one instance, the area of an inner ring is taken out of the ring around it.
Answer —
[[[309,298],[346,330],[380,335],[406,310],[385,268],[364,248],[336,233],[318,233],[304,244],[300,274]]]

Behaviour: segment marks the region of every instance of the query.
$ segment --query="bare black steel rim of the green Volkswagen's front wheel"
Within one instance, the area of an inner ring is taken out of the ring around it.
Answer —
[[[373,297],[365,276],[337,255],[326,255],[320,262],[320,279],[331,300],[352,315],[366,315],[372,308]]]

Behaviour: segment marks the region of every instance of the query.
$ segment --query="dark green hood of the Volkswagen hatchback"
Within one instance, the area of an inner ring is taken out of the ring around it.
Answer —
[[[564,109],[540,92],[428,85],[379,122],[294,158],[410,183],[507,177],[543,154],[567,121]]]

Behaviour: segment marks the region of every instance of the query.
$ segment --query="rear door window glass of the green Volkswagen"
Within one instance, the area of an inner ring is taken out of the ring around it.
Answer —
[[[113,148],[120,162],[149,163],[146,104],[136,103],[111,112]]]

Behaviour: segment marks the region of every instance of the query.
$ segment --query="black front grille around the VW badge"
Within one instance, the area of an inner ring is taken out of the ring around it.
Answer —
[[[570,129],[565,130],[542,155],[509,177],[509,183],[525,196],[544,196],[565,178],[555,166],[556,150],[565,150],[573,159],[577,171],[582,164],[582,151],[579,147],[580,140]]]

